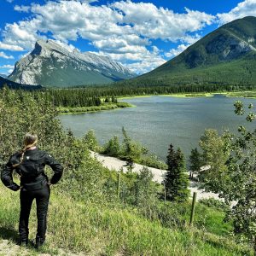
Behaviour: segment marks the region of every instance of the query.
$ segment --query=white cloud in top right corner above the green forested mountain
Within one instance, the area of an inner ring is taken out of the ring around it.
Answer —
[[[220,24],[241,19],[246,16],[256,16],[256,0],[245,0],[238,3],[236,8],[231,9],[229,13],[217,15]]]

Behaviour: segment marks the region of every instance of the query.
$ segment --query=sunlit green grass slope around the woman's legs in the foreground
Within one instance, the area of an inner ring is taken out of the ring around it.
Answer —
[[[0,238],[12,239],[18,226],[19,195],[3,185],[0,194]],[[227,235],[230,224],[219,230],[223,212],[201,207],[198,204],[195,218],[200,225],[189,227],[185,222],[180,227],[167,228],[159,220],[143,218],[136,208],[77,202],[57,195],[53,188],[47,244],[42,251],[55,255],[61,247],[67,252],[88,255],[253,255],[248,247],[236,244]],[[189,209],[183,209],[185,219],[188,212]],[[36,234],[34,208],[30,230],[32,239]],[[34,250],[30,251],[30,255],[35,255]]]

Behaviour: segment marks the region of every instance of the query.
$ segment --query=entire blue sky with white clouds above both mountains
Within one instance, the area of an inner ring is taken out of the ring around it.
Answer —
[[[218,26],[256,16],[256,0],[1,0],[0,11],[0,73],[48,38],[146,73]]]

